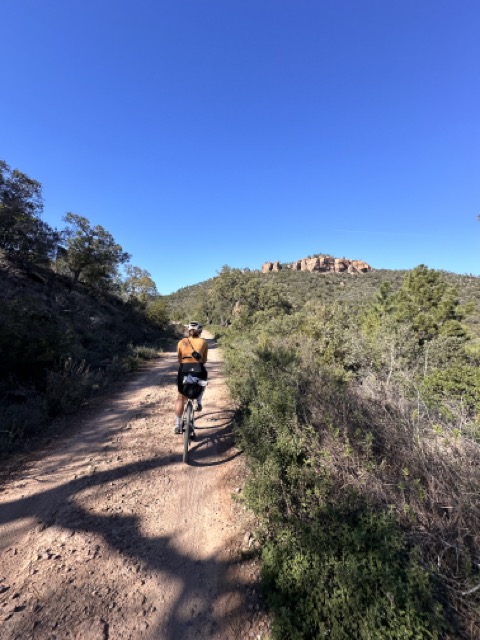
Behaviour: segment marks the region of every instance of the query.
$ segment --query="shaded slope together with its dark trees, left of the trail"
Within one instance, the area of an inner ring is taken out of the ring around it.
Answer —
[[[53,230],[42,212],[41,185],[0,161],[0,451],[156,354],[168,325],[107,230],[72,213]]]

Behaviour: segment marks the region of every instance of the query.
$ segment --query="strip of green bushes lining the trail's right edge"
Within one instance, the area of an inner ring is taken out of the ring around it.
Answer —
[[[344,383],[317,386],[323,376],[302,359],[310,350],[275,338],[257,338],[241,353],[242,365],[231,363],[230,373],[237,398],[248,400],[238,437],[252,468],[245,496],[266,532],[263,580],[274,638],[439,638],[442,607],[394,515],[335,488],[319,461],[328,454],[318,435],[299,420],[302,410],[308,417],[304,403],[315,389],[335,402],[346,397]]]

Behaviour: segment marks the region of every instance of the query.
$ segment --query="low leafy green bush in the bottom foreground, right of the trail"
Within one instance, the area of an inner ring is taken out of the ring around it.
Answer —
[[[276,640],[440,638],[441,606],[388,513],[366,505],[284,523],[262,553]]]

